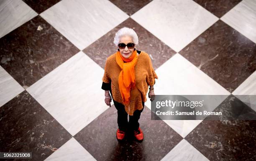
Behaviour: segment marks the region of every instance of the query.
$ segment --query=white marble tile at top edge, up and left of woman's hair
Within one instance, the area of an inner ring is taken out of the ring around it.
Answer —
[[[40,15],[80,50],[129,17],[108,0],[62,0]]]

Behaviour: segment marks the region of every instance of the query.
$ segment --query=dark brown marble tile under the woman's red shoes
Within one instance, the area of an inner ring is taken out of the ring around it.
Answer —
[[[116,139],[117,110],[108,108],[82,129],[74,138],[97,161],[160,161],[182,137],[162,120],[151,120],[151,111],[144,107],[139,120],[144,133],[141,143],[126,135],[125,141]]]

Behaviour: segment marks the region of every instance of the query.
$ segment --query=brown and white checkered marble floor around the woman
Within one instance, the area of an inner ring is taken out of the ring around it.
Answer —
[[[33,161],[256,160],[256,120],[151,120],[149,100],[144,141],[118,143],[117,111],[101,89],[115,32],[126,26],[151,57],[156,95],[227,95],[216,107],[256,95],[256,0],[0,0],[0,22],[0,152],[32,152]]]

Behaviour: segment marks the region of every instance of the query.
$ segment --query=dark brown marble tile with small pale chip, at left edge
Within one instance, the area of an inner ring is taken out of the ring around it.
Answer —
[[[0,38],[0,65],[25,89],[78,52],[39,15]]]

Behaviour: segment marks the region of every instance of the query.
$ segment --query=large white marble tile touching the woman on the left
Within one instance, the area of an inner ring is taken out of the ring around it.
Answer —
[[[103,73],[80,51],[26,90],[74,136],[108,108]]]

